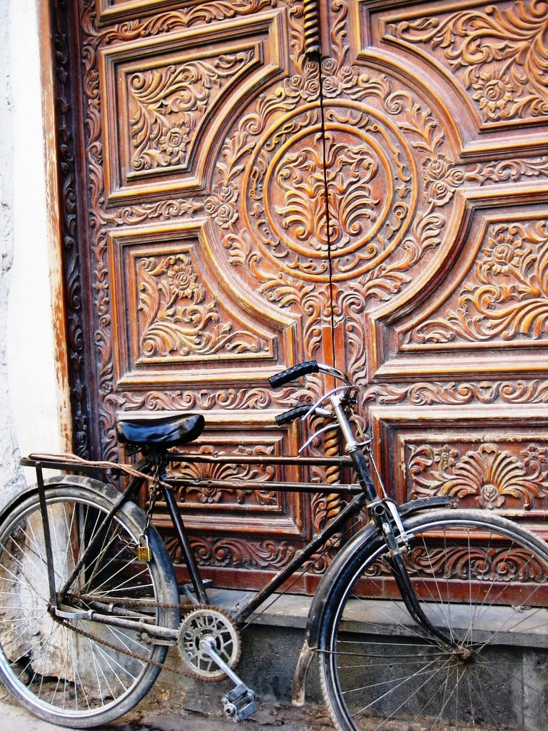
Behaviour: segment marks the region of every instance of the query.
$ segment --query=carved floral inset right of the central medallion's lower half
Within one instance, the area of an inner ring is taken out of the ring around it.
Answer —
[[[408,343],[548,336],[548,224],[491,224],[458,305],[408,333]]]

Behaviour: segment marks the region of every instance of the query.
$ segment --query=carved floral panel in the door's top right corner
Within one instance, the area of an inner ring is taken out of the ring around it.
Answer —
[[[444,19],[417,18],[387,28],[407,43],[441,49],[486,122],[548,114],[547,30],[541,0],[458,10]]]

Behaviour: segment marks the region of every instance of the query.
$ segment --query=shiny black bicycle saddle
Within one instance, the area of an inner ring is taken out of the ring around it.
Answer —
[[[204,431],[202,414],[176,414],[154,419],[128,419],[116,425],[116,436],[122,444],[135,444],[164,449],[177,447],[197,439]]]

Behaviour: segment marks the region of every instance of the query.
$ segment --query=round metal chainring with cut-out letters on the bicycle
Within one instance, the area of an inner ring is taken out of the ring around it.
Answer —
[[[227,675],[200,650],[201,640],[213,642],[221,659],[229,667],[236,667],[240,661],[240,632],[232,619],[215,607],[196,607],[184,616],[180,624],[177,645],[186,670],[202,681],[223,680]]]

